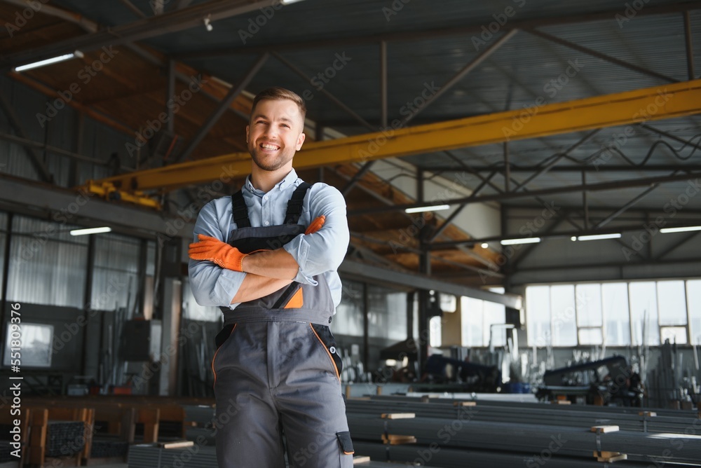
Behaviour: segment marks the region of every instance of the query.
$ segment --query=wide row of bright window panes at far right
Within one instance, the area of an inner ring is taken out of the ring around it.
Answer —
[[[526,287],[529,346],[701,344],[701,280]]]

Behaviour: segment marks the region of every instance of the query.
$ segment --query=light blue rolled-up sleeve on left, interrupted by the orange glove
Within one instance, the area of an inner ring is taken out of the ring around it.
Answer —
[[[201,210],[193,231],[193,242],[198,242],[198,234],[210,235],[226,242],[222,228],[217,219],[215,201],[207,203]],[[214,305],[217,307],[235,307],[233,296],[243,283],[245,273],[220,268],[215,263],[206,260],[190,259],[188,263],[190,287],[195,301],[199,305]]]

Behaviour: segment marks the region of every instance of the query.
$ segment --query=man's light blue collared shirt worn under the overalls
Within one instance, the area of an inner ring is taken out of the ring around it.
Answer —
[[[251,184],[250,176],[242,188],[248,207],[251,226],[277,226],[285,222],[287,201],[294,189],[302,183],[294,169],[271,191],[264,193]],[[324,214],[324,226],[310,235],[300,234],[283,247],[297,261],[299,270],[294,281],[316,285],[315,275],[325,275],[331,289],[334,306],[341,302],[341,279],[336,270],[346,256],[350,235],[346,219],[346,200],[336,188],[327,184],[314,184],[309,188],[298,223],[308,226],[317,216]],[[236,223],[231,218],[231,197],[217,198],[200,210],[193,232],[194,242],[198,234],[210,235],[229,242]],[[210,261],[189,262],[190,287],[199,305],[229,306],[246,273],[219,268]],[[335,313],[335,310],[334,310]]]

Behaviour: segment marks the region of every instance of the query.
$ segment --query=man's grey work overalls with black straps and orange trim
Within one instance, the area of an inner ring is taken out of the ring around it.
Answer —
[[[240,191],[232,195],[229,245],[243,253],[278,249],[304,233],[297,224],[309,184],[287,204],[285,224],[251,227]],[[329,330],[334,303],[318,286],[292,282],[264,298],[222,308],[212,359],[220,468],[349,468],[353,444],[341,394],[341,359]]]

